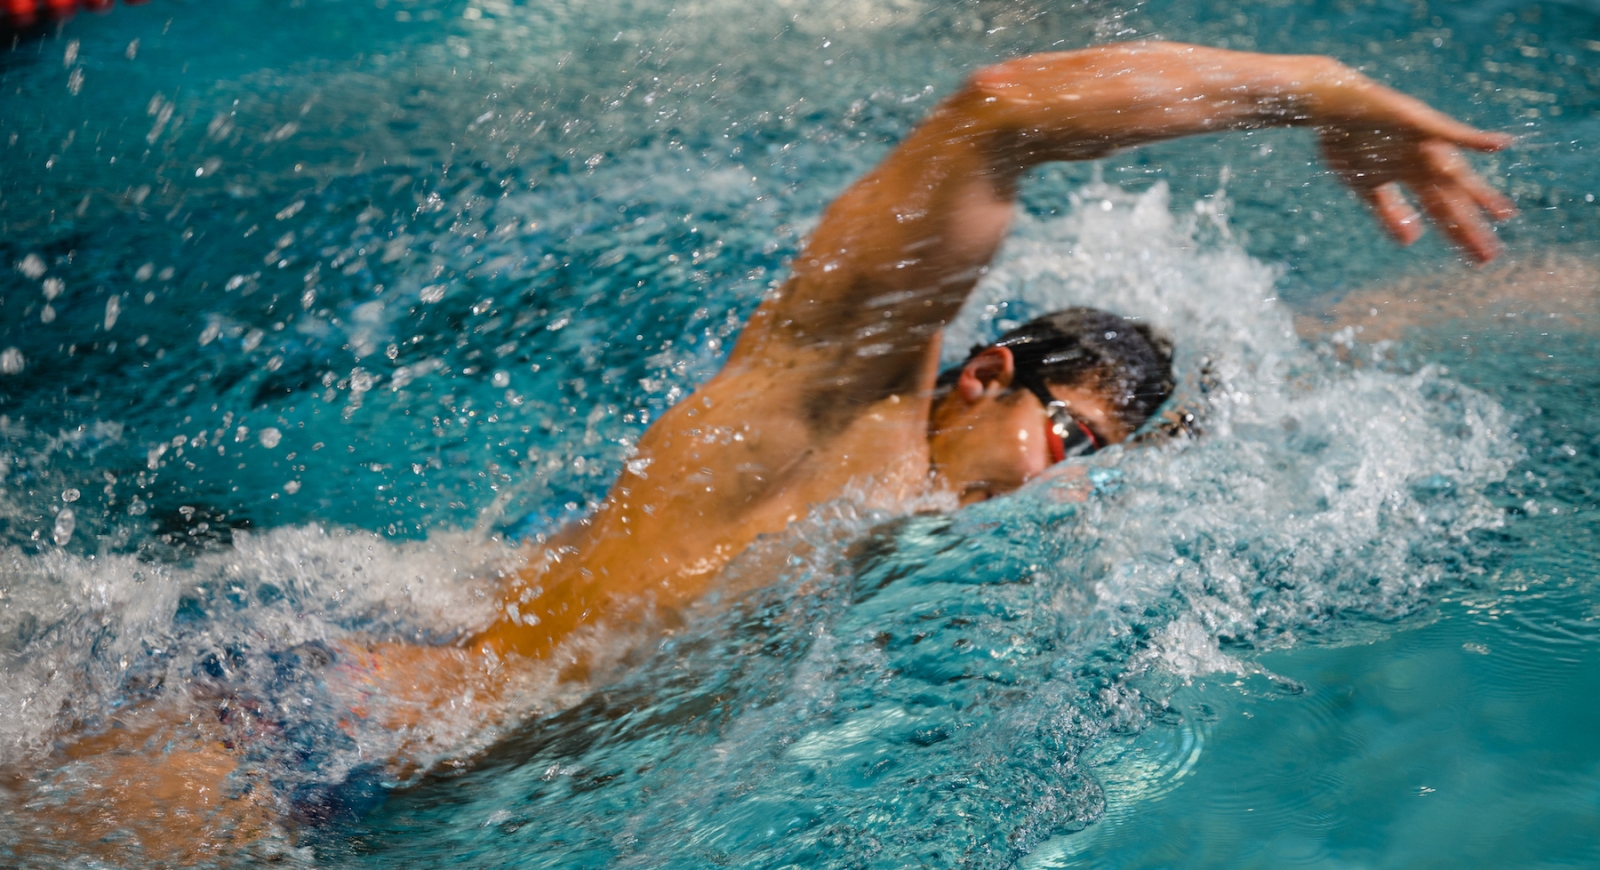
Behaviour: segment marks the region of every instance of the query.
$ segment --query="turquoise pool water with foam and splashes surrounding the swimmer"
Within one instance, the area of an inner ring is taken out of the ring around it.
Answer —
[[[1595,864],[1579,5],[157,0],[19,40],[3,758],[192,684],[280,702],[304,641],[472,630],[507,541],[602,496],[963,70],[1136,35],[1328,51],[1518,133],[1480,165],[1528,265],[1466,293],[1298,131],[1043,171],[947,345],[1141,313],[1205,437],[950,517],[819,509],[688,630],[531,688],[523,721],[442,723],[446,772],[394,793],[362,768],[394,737],[331,734],[307,689],[262,758],[371,809],[288,860]],[[1400,277],[1459,305],[1366,321],[1394,344],[1293,334]]]

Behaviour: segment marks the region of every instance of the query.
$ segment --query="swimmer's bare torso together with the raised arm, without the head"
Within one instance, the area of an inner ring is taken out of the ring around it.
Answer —
[[[646,597],[662,609],[694,600],[750,541],[850,480],[923,485],[939,331],[1000,248],[1027,168],[1286,125],[1322,134],[1402,241],[1418,219],[1397,184],[1472,256],[1494,256],[1486,216],[1510,203],[1456,149],[1509,138],[1326,58],[1134,43],[987,67],[829,206],[717,377],[645,432],[640,472],[546,547],[547,565],[514,584],[509,616],[482,640],[544,656]]]

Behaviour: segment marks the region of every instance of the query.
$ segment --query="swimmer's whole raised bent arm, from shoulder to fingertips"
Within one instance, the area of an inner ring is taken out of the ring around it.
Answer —
[[[1131,43],[987,67],[824,216],[794,277],[752,317],[730,369],[792,373],[816,435],[917,382],[930,344],[1005,237],[1016,179],[1195,133],[1315,126],[1330,165],[1403,243],[1421,233],[1397,182],[1474,259],[1510,203],[1456,150],[1482,133],[1317,56]],[[818,385],[824,385],[821,389]]]

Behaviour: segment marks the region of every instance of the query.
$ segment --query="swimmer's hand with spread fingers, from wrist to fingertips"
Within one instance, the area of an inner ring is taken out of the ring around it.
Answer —
[[[1333,64],[1315,78],[1312,126],[1328,166],[1378,214],[1402,245],[1422,235],[1422,211],[1477,262],[1501,253],[1490,221],[1517,213],[1499,190],[1472,171],[1461,149],[1494,152],[1512,144],[1504,133],[1467,126],[1421,101]]]

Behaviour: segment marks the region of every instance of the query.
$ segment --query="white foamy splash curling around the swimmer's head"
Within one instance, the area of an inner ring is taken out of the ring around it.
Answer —
[[[1498,526],[1483,489],[1522,454],[1504,409],[1438,368],[1357,368],[1302,344],[1275,299],[1277,270],[1227,240],[1214,203],[1179,218],[1165,186],[1096,184],[1064,219],[1024,219],[946,345],[954,361],[1066,305],[1142,318],[1176,341],[1176,401],[1200,411],[1205,435],[1098,457],[1123,486],[1086,505],[1069,558],[1093,553],[1096,608],[1114,625],[1182,600],[1149,657],[1181,676],[1243,672],[1219,641],[1290,643],[1342,611],[1414,608],[1456,569],[1419,553]]]

